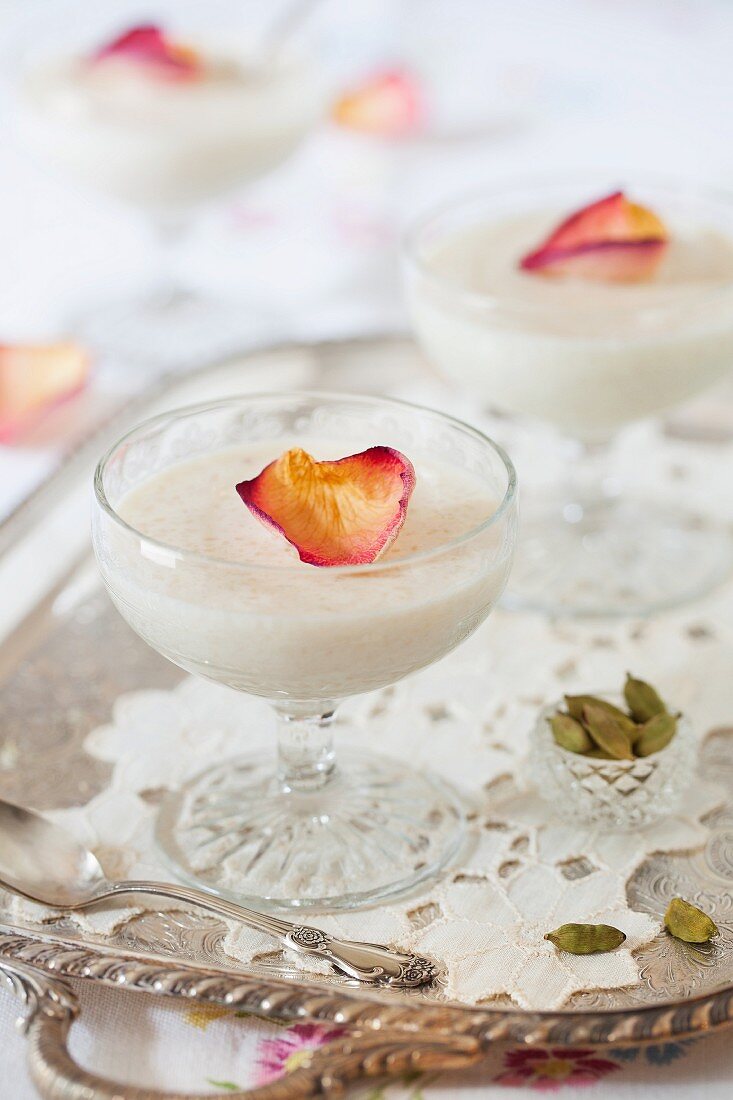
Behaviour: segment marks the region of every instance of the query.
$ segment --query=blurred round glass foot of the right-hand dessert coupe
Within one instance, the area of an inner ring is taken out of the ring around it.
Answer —
[[[674,507],[619,501],[584,513],[551,504],[523,517],[503,604],[565,616],[633,616],[675,607],[733,564],[724,527]]]

